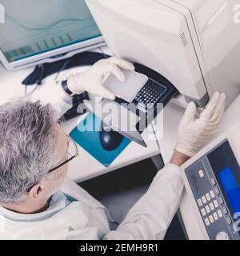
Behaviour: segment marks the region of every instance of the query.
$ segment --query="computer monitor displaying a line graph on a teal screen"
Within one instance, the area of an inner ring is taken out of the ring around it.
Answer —
[[[7,70],[54,62],[103,46],[84,0],[2,0],[0,61]]]

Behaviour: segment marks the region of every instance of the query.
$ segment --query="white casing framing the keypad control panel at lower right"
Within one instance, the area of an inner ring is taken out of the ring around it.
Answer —
[[[194,217],[196,217],[199,228],[202,231],[202,238],[199,237],[199,240],[208,240],[209,235],[206,232],[206,226],[202,221],[202,216],[198,210],[197,202],[194,199],[193,191],[191,190],[190,183],[186,176],[186,169],[188,169],[194,164],[194,162],[197,162],[198,159],[202,158],[205,154],[210,152],[210,150],[213,150],[216,146],[218,146],[221,142],[224,142],[225,140],[228,140],[228,142],[230,143],[231,150],[233,150],[234,156],[238,161],[238,165],[240,166],[240,120],[238,122],[235,122],[234,126],[231,126],[231,128],[228,129],[224,134],[220,135],[213,142],[210,142],[210,144],[205,146],[201,151],[199,151],[198,154],[196,154],[193,158],[190,158],[189,161],[181,166],[186,193],[188,195],[188,198],[190,198],[191,206],[193,206],[195,214]]]

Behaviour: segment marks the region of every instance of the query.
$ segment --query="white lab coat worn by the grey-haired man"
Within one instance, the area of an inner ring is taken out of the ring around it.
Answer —
[[[58,94],[64,101],[58,98],[54,105],[62,114],[70,104],[62,92]],[[65,198],[60,196],[51,206],[54,214],[48,214],[47,218],[44,212],[16,214],[2,208],[0,239],[163,239],[178,210],[182,190],[180,168],[167,165],[158,171],[149,190],[130,209],[118,229],[112,230],[114,220],[106,207],[75,182],[66,179],[62,191],[78,202],[65,206]]]

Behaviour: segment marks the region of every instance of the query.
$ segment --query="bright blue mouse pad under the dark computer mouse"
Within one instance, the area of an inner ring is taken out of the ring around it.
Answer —
[[[101,128],[102,121],[93,113],[90,113],[70,132],[70,137],[96,158],[98,162],[107,167],[130,144],[130,140],[124,137],[121,144],[115,150],[105,150],[102,148],[99,137]]]

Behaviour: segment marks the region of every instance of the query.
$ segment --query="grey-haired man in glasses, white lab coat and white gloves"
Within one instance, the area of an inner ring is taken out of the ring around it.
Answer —
[[[67,90],[114,98],[102,81],[110,73],[123,81],[121,69],[133,70],[134,66],[119,58],[102,60],[86,72],[70,76]],[[45,96],[50,90],[46,87]],[[70,97],[63,88],[48,94],[52,102],[56,98],[53,95],[59,94],[54,102],[58,114],[70,109]],[[170,163],[158,171],[149,190],[116,230],[106,207],[66,178],[67,162],[78,155],[78,150],[58,125],[53,106],[26,99],[0,106],[0,238],[164,238],[181,200],[179,166],[216,133],[224,102],[225,95],[215,93],[197,119],[195,104],[189,104]]]

